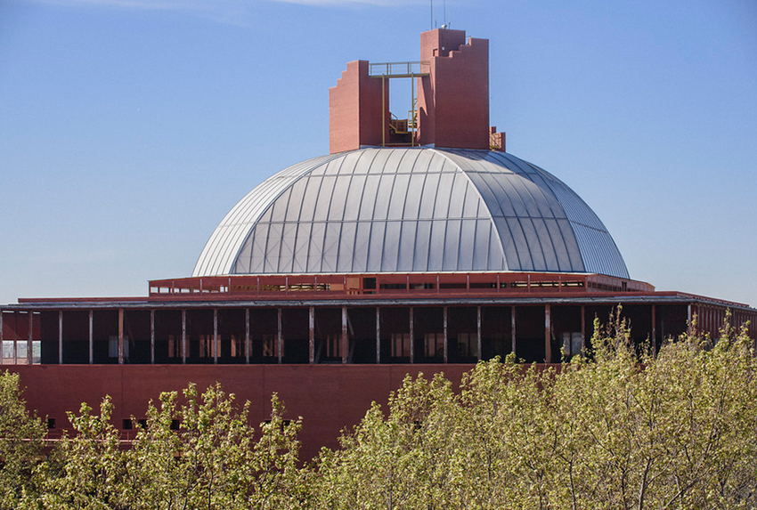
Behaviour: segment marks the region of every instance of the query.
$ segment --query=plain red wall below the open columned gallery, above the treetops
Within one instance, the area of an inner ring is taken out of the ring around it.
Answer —
[[[26,387],[28,409],[55,418],[59,429],[69,426],[66,411],[78,411],[81,402],[94,409],[105,395],[115,406],[113,424],[144,417],[148,402],[159,394],[181,392],[188,383],[204,390],[217,382],[235,393],[240,405],[250,401],[250,422],[267,419],[271,394],[278,393],[287,408],[285,418],[303,417],[301,456],[308,460],[322,446],[336,448],[339,431],[356,425],[371,401],[382,405],[403,377],[419,372],[431,376],[444,371],[454,385],[473,365],[17,365]]]

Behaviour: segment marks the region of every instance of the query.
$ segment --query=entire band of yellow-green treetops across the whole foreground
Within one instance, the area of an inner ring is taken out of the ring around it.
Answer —
[[[339,449],[298,464],[301,422],[256,430],[220,385],[163,393],[124,448],[82,405],[50,460],[45,433],[0,374],[3,508],[757,507],[757,358],[745,330],[693,332],[649,352],[615,318],[558,369],[480,362],[459,391],[410,376]],[[24,441],[26,438],[31,441]]]

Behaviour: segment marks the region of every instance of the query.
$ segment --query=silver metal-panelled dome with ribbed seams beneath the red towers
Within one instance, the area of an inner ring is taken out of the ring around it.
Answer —
[[[219,223],[192,276],[560,271],[628,278],[554,175],[504,152],[352,150],[289,166]]]

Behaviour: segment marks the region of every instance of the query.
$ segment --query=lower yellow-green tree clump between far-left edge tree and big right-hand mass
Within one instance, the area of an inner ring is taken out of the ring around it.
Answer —
[[[82,404],[69,414],[73,428],[37,466],[41,495],[28,507],[50,509],[294,508],[304,503],[297,466],[300,420],[283,420],[284,408],[272,398],[271,420],[248,425],[249,403],[234,405],[234,395],[216,384],[201,395],[195,385],[160,395],[146,426],[131,448],[123,448],[110,425],[110,398],[100,415]]]

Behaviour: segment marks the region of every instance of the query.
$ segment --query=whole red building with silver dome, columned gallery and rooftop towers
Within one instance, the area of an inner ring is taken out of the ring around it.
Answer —
[[[411,80],[407,118],[389,110],[395,79]],[[509,352],[556,363],[617,305],[655,346],[695,315],[713,336],[727,311],[754,324],[745,304],[631,279],[590,207],[490,124],[485,39],[436,29],[420,61],[350,62],[330,89],[330,154],[242,198],[191,277],[146,297],[2,305],[3,364],[53,433],[105,394],[128,429],[189,382],[221,382],[254,421],[277,392],[304,417],[309,457],[407,373],[459,380]]]

